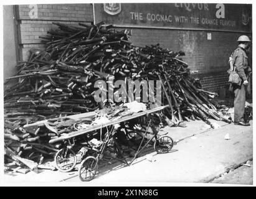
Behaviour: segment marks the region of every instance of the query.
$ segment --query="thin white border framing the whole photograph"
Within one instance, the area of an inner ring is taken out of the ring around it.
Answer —
[[[84,4],[84,3],[103,3],[105,1],[81,1],[81,0],[77,0],[77,1],[67,1],[67,0],[55,0],[54,1],[54,4],[65,4],[65,3],[68,3],[68,4],[74,4],[74,3],[79,3],[79,4]],[[116,0],[108,0],[108,2],[116,2]],[[138,3],[138,2],[184,2],[183,1],[141,1],[141,0],[138,0],[138,1],[135,1],[135,0],[130,0],[130,1],[118,1],[118,2],[134,2],[134,3]],[[186,1],[186,2],[205,2],[205,3],[216,3],[216,1],[212,1],[212,0],[208,0],[208,1]],[[218,1],[217,1],[218,2]],[[236,4],[241,4],[241,1],[222,1],[222,3],[236,3]],[[252,0],[246,0],[246,1],[242,1],[243,4],[252,4],[252,27],[253,27],[253,30],[254,30],[254,27],[255,27],[255,3],[254,1]],[[9,0],[7,2],[2,2],[1,1],[1,7],[0,7],[0,27],[1,27],[1,33],[0,33],[0,45],[1,45],[1,49],[0,49],[0,52],[1,52],[1,68],[3,70],[3,31],[2,31],[2,27],[3,27],[3,21],[2,21],[2,14],[3,14],[3,11],[2,11],[2,5],[12,5],[12,4],[53,4],[52,0],[28,0],[28,1],[18,1],[18,0]],[[95,21],[95,16],[94,16],[94,12],[93,12],[93,21]],[[256,38],[255,36],[255,31],[252,32],[253,34],[253,40]],[[235,41],[234,41],[235,42]],[[253,49],[255,49],[255,45],[254,45],[254,42],[252,42],[252,46],[253,46]],[[255,57],[255,50],[253,50],[253,55],[252,57]],[[253,65],[253,68],[255,67],[254,66],[254,60],[252,60],[252,65]],[[0,101],[1,101],[1,121],[0,121],[0,124],[1,124],[1,129],[3,130],[4,129],[4,115],[3,115],[3,72],[1,72],[1,97],[0,97]],[[254,84],[254,78],[253,78],[253,86],[255,86]],[[253,99],[255,99],[255,92],[253,92]],[[255,109],[254,109],[254,116],[256,116],[255,114]],[[254,119],[254,126],[255,126],[255,120]],[[255,137],[255,136],[254,136]],[[254,141],[255,141],[255,138],[254,138]],[[0,143],[4,143],[4,131],[1,131],[1,134],[0,134]],[[255,142],[254,142],[255,143]],[[88,186],[86,185],[86,183],[70,183],[70,182],[62,182],[62,183],[22,183],[22,184],[16,184],[16,183],[4,183],[4,180],[3,180],[3,175],[4,175],[4,146],[2,144],[0,144],[0,146],[2,146],[2,148],[0,149],[0,185],[1,186]],[[255,147],[254,147],[254,154],[255,154]],[[255,187],[255,167],[254,167],[254,185],[252,185],[252,187]],[[198,186],[201,186],[201,187],[228,187],[230,185],[228,184],[212,184],[212,183],[157,183],[157,184],[152,184],[152,183],[116,183],[116,184],[112,184],[110,186],[176,186],[176,187],[182,187],[182,186],[189,186],[189,187],[198,187]],[[101,185],[99,185],[101,186]],[[231,185],[233,187],[248,187],[247,185]],[[251,186],[249,186],[251,187]]]

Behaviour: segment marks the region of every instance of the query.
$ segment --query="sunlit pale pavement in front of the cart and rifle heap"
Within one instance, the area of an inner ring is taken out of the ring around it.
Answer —
[[[90,182],[81,182],[76,171],[41,170],[39,174],[6,174],[4,184],[88,187],[220,185],[214,181],[216,178],[253,159],[253,127],[252,121],[251,126],[211,121],[219,128],[211,129],[203,121],[186,122],[187,127],[164,127],[159,134],[168,132],[168,136],[177,141],[169,153],[156,154],[153,147],[148,147],[130,166],[114,162],[100,167]],[[225,139],[227,136],[229,139]],[[248,175],[252,179],[252,172]],[[240,184],[251,185],[252,180]]]

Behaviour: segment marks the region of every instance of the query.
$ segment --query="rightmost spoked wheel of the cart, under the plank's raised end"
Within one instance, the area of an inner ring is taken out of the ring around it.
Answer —
[[[154,142],[154,150],[158,152],[158,154],[164,154],[169,152],[173,148],[173,139],[169,136],[161,136]]]

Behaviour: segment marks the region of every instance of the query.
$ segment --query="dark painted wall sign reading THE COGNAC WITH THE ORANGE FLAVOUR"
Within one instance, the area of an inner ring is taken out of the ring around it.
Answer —
[[[94,6],[96,23],[252,32],[252,4],[123,3]]]

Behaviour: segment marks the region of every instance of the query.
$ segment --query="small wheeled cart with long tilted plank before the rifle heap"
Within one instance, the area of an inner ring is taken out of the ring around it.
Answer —
[[[77,158],[76,158],[75,152],[73,152],[72,150],[72,147],[75,146],[75,142],[73,138],[77,136],[81,136],[83,134],[90,133],[90,132],[95,132],[99,129],[102,129],[103,127],[106,127],[107,132],[105,133],[105,136],[103,137],[102,142],[100,143],[100,146],[98,146],[97,148],[94,148],[94,147],[90,147],[88,144],[85,143],[85,147],[87,147],[87,149],[90,150],[90,152],[93,155],[87,155],[85,159],[82,160],[80,167],[78,168],[78,175],[80,180],[82,181],[92,180],[95,174],[97,173],[98,162],[99,160],[102,159],[103,154],[107,149],[108,142],[110,141],[110,139],[113,138],[113,134],[115,131],[115,126],[114,126],[115,124],[123,123],[131,119],[140,118],[141,116],[149,116],[151,113],[161,111],[166,107],[168,107],[168,105],[149,109],[140,113],[133,113],[130,116],[124,116],[123,118],[116,119],[114,121],[110,121],[105,124],[88,127],[87,129],[83,129],[80,131],[73,131],[65,136],[60,136],[50,140],[49,141],[50,144],[55,142],[60,142],[60,141],[64,143],[63,145],[64,147],[60,149],[59,152],[57,152],[57,154],[55,155],[56,167],[62,172],[69,172],[70,170],[72,170],[77,164]],[[143,149],[145,149],[145,147],[149,144],[149,142],[153,142],[153,139],[155,139],[154,149],[158,153],[166,153],[173,148],[173,145],[174,145],[173,139],[166,135],[158,136],[158,131],[156,129],[154,129],[153,131],[154,132],[153,136],[151,136],[151,138],[146,142],[146,144],[143,145],[143,141],[145,140],[145,136],[148,132],[149,126],[151,126],[151,119],[149,120],[145,134],[143,136],[143,139],[141,140],[140,146],[138,147],[135,157],[133,157],[133,160],[135,160],[138,154],[140,154],[140,152]],[[151,127],[153,128],[154,126],[151,126]],[[115,142],[115,139],[113,139],[113,141]],[[123,157],[120,149],[118,149],[118,144],[116,144],[116,147],[120,155]],[[133,160],[131,160],[131,162],[128,163],[126,159],[124,159],[124,162],[126,165],[131,165]]]

